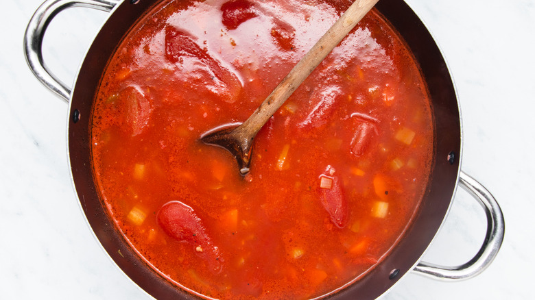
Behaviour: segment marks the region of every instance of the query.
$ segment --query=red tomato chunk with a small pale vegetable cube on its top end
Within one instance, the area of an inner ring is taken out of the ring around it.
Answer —
[[[325,173],[320,175],[320,182],[323,182],[320,186],[320,199],[334,225],[338,228],[344,228],[347,225],[348,219],[347,203],[340,178],[335,176],[334,173],[334,168],[327,166]],[[329,184],[324,184],[324,182],[329,182]]]

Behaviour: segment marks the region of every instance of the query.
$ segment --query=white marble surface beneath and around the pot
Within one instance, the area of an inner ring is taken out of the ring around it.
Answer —
[[[108,259],[86,225],[67,166],[67,105],[27,68],[22,40],[41,0],[3,0],[0,14],[0,299],[150,299]],[[464,121],[462,168],[495,195],[506,238],[495,262],[465,282],[409,274],[384,299],[533,299],[535,268],[535,1],[407,0],[449,62]],[[49,66],[71,83],[106,13],[57,16]],[[459,264],[485,219],[465,192],[425,260]]]

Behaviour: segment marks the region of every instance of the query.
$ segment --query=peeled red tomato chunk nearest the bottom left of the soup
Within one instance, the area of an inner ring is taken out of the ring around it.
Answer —
[[[213,245],[212,239],[193,208],[180,201],[170,201],[160,208],[156,218],[169,236],[193,246],[193,251],[208,262],[212,271],[215,273],[221,271],[222,258],[219,248]]]

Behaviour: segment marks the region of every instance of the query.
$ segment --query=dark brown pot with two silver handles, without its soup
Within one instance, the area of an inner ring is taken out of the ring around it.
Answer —
[[[36,10],[25,33],[25,55],[29,68],[49,90],[69,104],[68,145],[71,175],[80,208],[108,255],[143,290],[157,299],[195,299],[147,266],[115,229],[93,182],[91,166],[91,109],[102,72],[128,29],[148,12],[157,0],[47,0]],[[80,66],[71,89],[49,71],[41,45],[49,22],[62,10],[85,7],[109,12]],[[460,280],[478,275],[497,255],[505,225],[503,214],[490,192],[461,171],[462,125],[455,87],[431,34],[418,16],[401,0],[381,0],[377,10],[403,36],[420,64],[433,101],[435,147],[431,177],[423,201],[405,236],[375,268],[333,299],[375,299],[387,292],[407,272],[434,279]],[[438,266],[421,262],[446,218],[455,190],[461,186],[484,209],[488,227],[481,249],[466,264]]]

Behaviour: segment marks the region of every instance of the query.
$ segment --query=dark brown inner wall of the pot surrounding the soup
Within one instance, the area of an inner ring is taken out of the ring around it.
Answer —
[[[194,299],[152,271],[130,249],[102,205],[91,166],[91,110],[102,71],[123,36],[157,1],[123,1],[112,11],[80,67],[69,114],[69,156],[80,204],[102,246],[136,284],[157,299]],[[394,285],[420,260],[447,214],[460,169],[461,126],[455,89],[440,50],[418,16],[401,0],[381,0],[377,10],[403,36],[425,77],[435,127],[431,178],[416,218],[387,258],[333,297],[374,299]],[[106,55],[104,54],[106,53]],[[76,117],[75,117],[76,116]],[[453,159],[450,159],[453,158]]]

